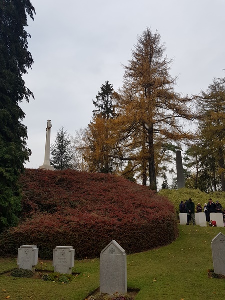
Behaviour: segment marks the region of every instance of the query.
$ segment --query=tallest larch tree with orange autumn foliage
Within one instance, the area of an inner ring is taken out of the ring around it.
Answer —
[[[174,91],[175,79],[169,74],[172,60],[164,56],[160,40],[158,32],[149,28],[138,37],[132,59],[124,66],[116,120],[120,159],[135,161],[142,169],[143,184],[149,176],[150,188],[156,191],[156,159],[166,145],[191,137],[184,119],[192,118],[190,99]]]

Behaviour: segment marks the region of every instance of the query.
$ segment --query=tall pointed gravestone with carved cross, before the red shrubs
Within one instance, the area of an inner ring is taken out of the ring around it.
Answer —
[[[100,254],[100,293],[127,293],[125,250],[112,240]]]

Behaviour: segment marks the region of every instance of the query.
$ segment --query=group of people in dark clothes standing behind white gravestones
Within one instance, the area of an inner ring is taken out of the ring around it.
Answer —
[[[193,225],[195,225],[195,205],[191,198],[186,200],[186,202],[181,201],[179,204],[180,213],[187,213],[187,225],[192,219]],[[202,208],[201,204],[198,203],[196,206],[196,212],[204,212],[206,216],[206,221],[210,222],[210,213],[211,212],[218,212],[223,213],[223,219],[225,218],[225,209],[222,210],[222,205],[217,200],[213,202],[210,198],[208,203],[204,203],[204,207]]]

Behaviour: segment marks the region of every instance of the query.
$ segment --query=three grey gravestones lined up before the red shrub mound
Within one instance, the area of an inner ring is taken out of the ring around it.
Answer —
[[[72,247],[57,246],[53,251],[55,272],[71,274],[74,260],[75,250]],[[37,246],[23,245],[18,249],[19,268],[33,270],[37,263]],[[127,293],[126,253],[115,240],[112,240],[100,254],[100,292]]]

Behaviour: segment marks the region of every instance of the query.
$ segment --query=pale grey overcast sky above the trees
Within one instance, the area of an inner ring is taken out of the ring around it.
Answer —
[[[106,80],[116,91],[137,36],[156,30],[174,58],[176,91],[197,94],[225,77],[224,0],[31,0],[29,51],[34,64],[24,77],[35,100],[22,103],[32,151],[26,167],[44,161],[47,120],[51,143],[61,126],[71,135],[90,122]]]

